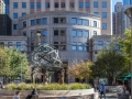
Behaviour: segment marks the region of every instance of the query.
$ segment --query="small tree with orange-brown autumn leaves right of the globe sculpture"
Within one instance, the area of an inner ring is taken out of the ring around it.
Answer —
[[[89,61],[87,62],[81,61],[80,63],[75,61],[72,66],[68,66],[68,76],[78,78],[82,81],[82,79],[90,77],[91,64],[92,63]]]

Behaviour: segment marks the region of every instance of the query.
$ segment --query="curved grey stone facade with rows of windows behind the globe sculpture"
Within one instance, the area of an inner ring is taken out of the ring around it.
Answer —
[[[37,31],[41,43],[59,50],[61,58],[67,66],[73,61],[89,59],[89,40],[101,34],[101,18],[72,11],[36,12],[19,19],[19,35],[29,38],[29,55],[37,46]]]

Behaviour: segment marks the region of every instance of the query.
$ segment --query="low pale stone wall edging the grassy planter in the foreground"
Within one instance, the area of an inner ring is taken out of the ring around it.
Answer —
[[[61,97],[89,97],[94,99],[95,90],[92,89],[82,89],[82,90],[38,90],[38,99],[43,98],[61,98]],[[12,99],[14,90],[0,90],[0,99]],[[31,90],[21,90],[21,99],[25,99],[28,95],[31,94]]]

